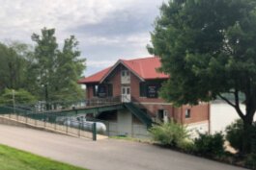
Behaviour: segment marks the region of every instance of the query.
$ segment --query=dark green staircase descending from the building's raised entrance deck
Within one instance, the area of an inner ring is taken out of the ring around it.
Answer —
[[[147,128],[152,127],[152,119],[151,117],[141,109],[139,109],[136,105],[133,103],[124,103],[125,107],[134,114],[141,122],[147,125]]]

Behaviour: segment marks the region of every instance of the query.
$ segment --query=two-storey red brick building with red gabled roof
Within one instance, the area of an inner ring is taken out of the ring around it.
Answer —
[[[110,134],[143,137],[152,122],[170,119],[187,125],[189,129],[209,132],[210,105],[174,108],[158,96],[161,84],[169,76],[157,72],[158,57],[119,60],[113,66],[81,79],[86,85],[86,98],[120,97],[125,109],[105,111],[97,118],[110,122]]]

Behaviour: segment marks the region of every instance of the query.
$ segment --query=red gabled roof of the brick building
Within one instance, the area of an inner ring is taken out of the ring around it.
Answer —
[[[78,84],[101,83],[119,65],[126,66],[141,80],[168,79],[169,76],[156,71],[161,63],[158,57],[142,58],[135,60],[119,60],[113,66],[78,81]]]

